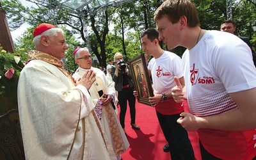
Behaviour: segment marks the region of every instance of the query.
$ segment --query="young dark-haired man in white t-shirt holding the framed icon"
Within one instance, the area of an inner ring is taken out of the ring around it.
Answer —
[[[152,76],[154,97],[148,99],[151,106],[156,108],[159,124],[168,142],[163,148],[164,152],[170,151],[172,159],[195,159],[188,132],[176,122],[184,108],[172,98],[174,76],[184,84],[181,59],[177,54],[161,49],[158,35],[154,28],[148,28],[141,35],[143,50],[153,56],[148,63],[148,73]]]

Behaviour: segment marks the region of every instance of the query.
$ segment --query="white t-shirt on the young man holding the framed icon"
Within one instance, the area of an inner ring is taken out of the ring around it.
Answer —
[[[175,86],[174,76],[183,77],[181,58],[169,51],[164,51],[157,59],[152,58],[148,69],[152,74],[154,94],[170,92]]]

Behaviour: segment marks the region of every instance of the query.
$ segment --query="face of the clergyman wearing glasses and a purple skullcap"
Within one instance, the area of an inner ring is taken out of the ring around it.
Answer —
[[[92,67],[92,58],[88,51],[82,51],[76,61],[81,68],[90,69]]]

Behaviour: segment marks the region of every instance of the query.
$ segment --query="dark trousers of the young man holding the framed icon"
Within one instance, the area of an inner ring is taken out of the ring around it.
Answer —
[[[162,115],[158,112],[156,114],[164,137],[169,143],[172,160],[195,159],[194,151],[188,138],[188,132],[181,125],[177,124],[180,114]]]

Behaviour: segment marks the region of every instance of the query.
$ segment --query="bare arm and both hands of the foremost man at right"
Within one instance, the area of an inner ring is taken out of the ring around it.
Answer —
[[[182,86],[176,79],[177,90],[182,90]],[[173,91],[173,90],[172,90]],[[173,99],[184,99],[184,93],[172,93]],[[177,122],[187,131],[198,129],[218,129],[223,131],[246,131],[256,129],[256,88],[244,90],[236,93],[229,93],[230,97],[236,102],[238,108],[220,115],[197,117],[191,113],[181,113]],[[180,98],[181,97],[181,98]]]

